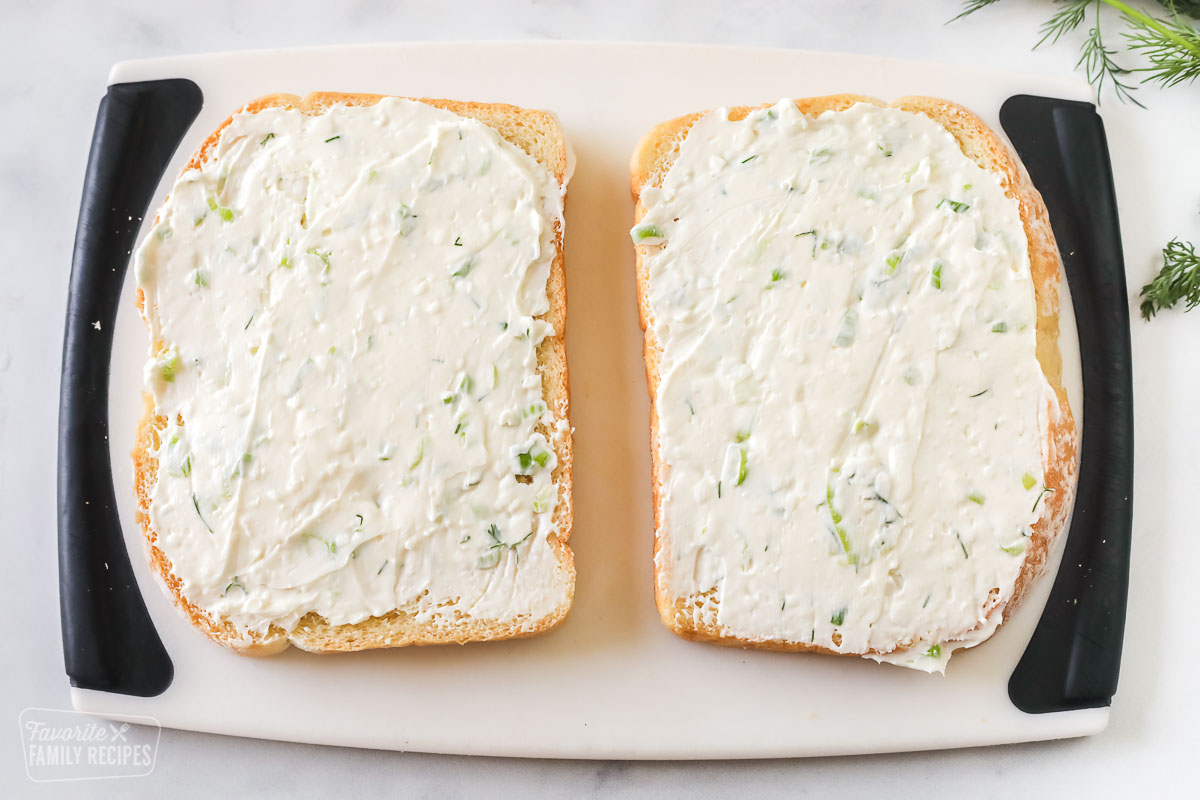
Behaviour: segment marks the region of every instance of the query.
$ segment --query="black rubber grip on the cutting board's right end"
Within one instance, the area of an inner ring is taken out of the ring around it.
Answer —
[[[1133,529],[1133,366],[1121,228],[1091,103],[1018,95],[1000,121],[1050,211],[1079,326],[1084,433],[1062,566],[1008,681],[1030,714],[1109,705],[1121,672]]]

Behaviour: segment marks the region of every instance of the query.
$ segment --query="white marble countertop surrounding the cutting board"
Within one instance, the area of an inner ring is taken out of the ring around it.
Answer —
[[[71,243],[96,104],[118,60],[418,40],[692,41],[919,55],[1068,74],[1078,40],[1028,50],[1044,0],[1004,0],[946,26],[956,0],[893,2],[0,1],[0,727],[67,708],[55,572],[55,423]],[[852,89],[852,88],[847,88]],[[1175,234],[1200,240],[1200,86],[1104,107],[1129,284]],[[1130,201],[1130,198],[1134,198]],[[836,792],[1142,796],[1194,790],[1200,746],[1193,622],[1200,560],[1200,312],[1133,324],[1138,476],[1129,628],[1109,729],[985,750],[746,763],[570,763],[398,754],[163,732],[149,777],[34,784],[0,736],[2,796],[720,796]],[[936,709],[931,709],[936,714]],[[5,722],[7,720],[7,722]],[[715,734],[716,732],[714,732]],[[1184,788],[1188,787],[1188,788]],[[1172,792],[1172,788],[1175,792]]]

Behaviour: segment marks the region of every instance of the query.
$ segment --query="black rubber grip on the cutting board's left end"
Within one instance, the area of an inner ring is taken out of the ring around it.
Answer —
[[[59,397],[62,652],[71,685],[82,688],[149,697],[166,691],[174,675],[116,513],[108,375],[116,306],[142,217],[202,106],[191,80],[109,86],[88,157]]]

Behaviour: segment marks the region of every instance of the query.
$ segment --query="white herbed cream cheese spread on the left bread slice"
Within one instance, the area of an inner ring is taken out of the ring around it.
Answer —
[[[161,434],[150,521],[239,631],[570,596],[538,319],[563,187],[496,131],[386,98],[238,114],[137,255]]]

